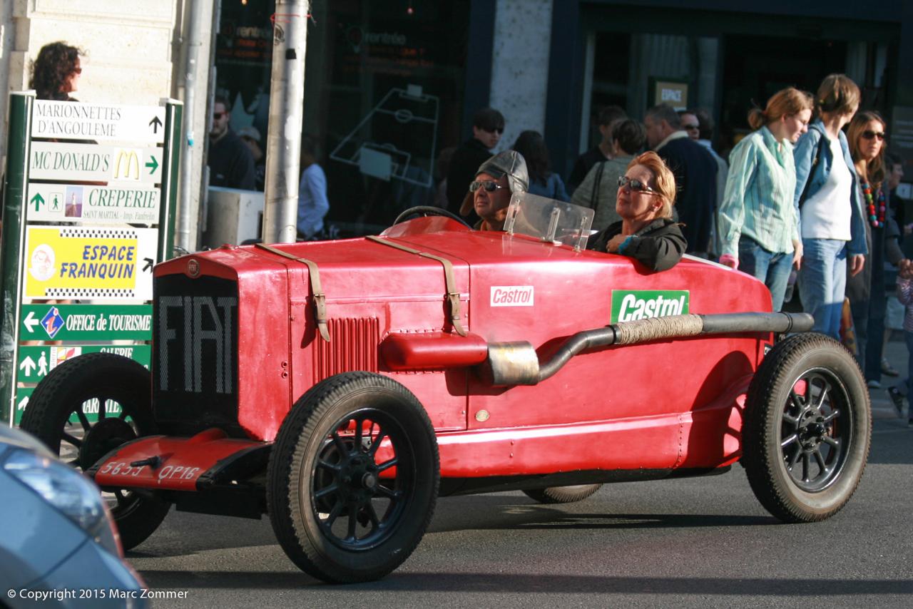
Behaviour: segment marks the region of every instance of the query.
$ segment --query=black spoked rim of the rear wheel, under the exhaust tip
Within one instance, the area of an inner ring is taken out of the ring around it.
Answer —
[[[830,487],[846,463],[855,421],[844,384],[813,368],[792,383],[781,415],[780,446],[786,473],[810,493]]]

